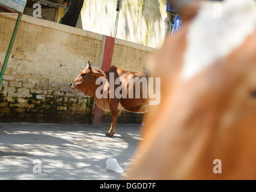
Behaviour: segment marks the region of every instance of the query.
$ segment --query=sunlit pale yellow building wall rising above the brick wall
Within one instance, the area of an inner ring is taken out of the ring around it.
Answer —
[[[85,0],[77,27],[114,36],[116,0]],[[117,38],[158,48],[165,38],[166,0],[120,0]]]

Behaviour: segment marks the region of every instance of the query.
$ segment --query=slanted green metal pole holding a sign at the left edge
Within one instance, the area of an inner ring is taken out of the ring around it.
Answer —
[[[13,29],[13,35],[11,35],[11,41],[9,43],[7,53],[5,55],[4,64],[2,64],[2,70],[1,70],[1,73],[0,73],[0,85],[1,85],[1,82],[2,82],[2,77],[4,77],[4,71],[5,71],[8,59],[10,57],[11,49],[13,48],[14,39],[16,37],[17,31],[18,31],[18,28],[19,28],[21,17],[22,17],[22,13],[19,13],[19,15],[17,17],[17,20],[16,20],[15,27]]]

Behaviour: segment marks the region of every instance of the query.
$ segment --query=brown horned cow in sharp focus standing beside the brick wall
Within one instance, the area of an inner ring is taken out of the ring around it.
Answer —
[[[99,79],[100,77],[102,79]],[[119,80],[117,80],[118,78]],[[131,90],[129,89],[129,79],[134,80],[130,83],[130,86],[133,84],[134,89],[132,90],[132,95],[134,95],[134,97],[129,97],[129,90]],[[106,133],[106,136],[112,137],[115,134],[115,123],[117,121],[119,110],[125,109],[134,113],[147,112],[148,100],[147,97],[142,97],[144,95],[144,89],[146,88],[145,86],[147,85],[141,85],[141,79],[147,81],[145,73],[122,70],[114,65],[110,67],[108,71],[104,72],[91,67],[90,61],[88,61],[87,68],[82,70],[70,86],[72,89],[79,89],[84,92],[85,95],[93,97],[95,103],[100,109],[105,112],[111,112],[112,124],[110,130]],[[99,80],[101,84],[97,83],[97,80]],[[139,86],[136,86],[136,82],[138,81]],[[100,89],[100,87],[102,87],[102,89]],[[136,88],[137,90],[139,89],[138,92],[141,97],[135,97]],[[97,90],[99,90],[98,95]],[[103,97],[104,95],[105,97]]]

